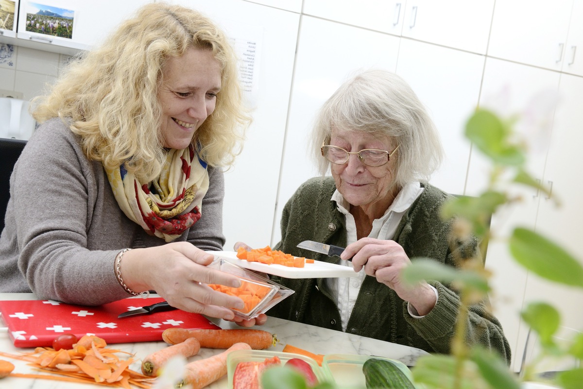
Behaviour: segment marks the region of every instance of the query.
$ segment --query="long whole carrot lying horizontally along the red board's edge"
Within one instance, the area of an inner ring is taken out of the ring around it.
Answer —
[[[275,335],[263,330],[185,330],[184,328],[167,328],[162,333],[162,339],[168,344],[184,342],[188,338],[196,338],[201,347],[229,348],[244,342],[254,350],[270,348],[278,342]]]

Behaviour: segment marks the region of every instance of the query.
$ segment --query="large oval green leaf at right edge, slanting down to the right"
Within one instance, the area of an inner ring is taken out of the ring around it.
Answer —
[[[540,277],[583,288],[583,267],[577,259],[542,235],[516,228],[510,252],[522,266]]]

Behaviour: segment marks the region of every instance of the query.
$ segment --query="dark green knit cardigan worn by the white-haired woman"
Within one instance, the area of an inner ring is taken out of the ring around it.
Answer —
[[[423,186],[422,195],[403,215],[394,241],[405,249],[409,258],[429,257],[455,266],[449,247],[452,220],[444,221],[439,215],[440,206],[449,195],[434,186]],[[346,246],[345,217],[336,209],[336,202],[330,200],[335,189],[331,177],[312,178],[301,185],[283,210],[282,241],[273,248],[294,256],[335,262],[337,259],[296,247],[304,240]],[[468,256],[476,249],[477,241],[470,239],[465,243],[459,242],[455,252]],[[269,316],[342,331],[340,313],[322,278],[272,279],[294,289],[296,293],[270,309]],[[426,316],[415,319],[409,316],[407,303],[392,289],[367,276],[350,315],[347,331],[427,352],[449,353],[459,296],[448,285],[431,280],[428,282],[439,293],[437,305]],[[510,363],[510,345],[500,323],[487,309],[487,303],[484,301],[470,307],[466,341],[496,350]]]

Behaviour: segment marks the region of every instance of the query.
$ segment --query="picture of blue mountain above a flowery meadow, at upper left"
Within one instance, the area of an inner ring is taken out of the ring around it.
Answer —
[[[29,2],[26,5],[26,31],[72,39],[74,16],[75,12],[70,9]]]

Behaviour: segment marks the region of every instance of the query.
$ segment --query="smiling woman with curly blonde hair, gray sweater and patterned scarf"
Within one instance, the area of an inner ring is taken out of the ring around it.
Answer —
[[[155,290],[233,319],[222,250],[222,169],[243,109],[229,39],[200,13],[149,3],[34,101],[42,123],[10,178],[0,291],[100,305]]]

